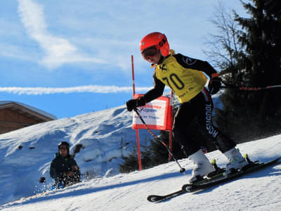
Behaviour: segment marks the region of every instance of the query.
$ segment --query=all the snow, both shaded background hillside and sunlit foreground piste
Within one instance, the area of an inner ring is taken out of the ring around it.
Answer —
[[[141,139],[150,134],[141,130]],[[75,159],[82,174],[93,179],[44,194],[52,184],[48,168],[58,143],[68,141],[71,150],[83,148]],[[21,149],[19,146],[22,146]],[[96,113],[55,120],[0,135],[0,210],[280,210],[281,164],[199,193],[186,193],[163,203],[150,203],[150,194],[177,191],[190,178],[192,162],[179,160],[149,170],[120,174],[122,155],[136,147],[131,113],[124,106]],[[280,157],[281,136],[272,136],[237,146],[251,160],[267,162]],[[219,151],[207,153],[218,166],[226,165]],[[46,184],[39,179],[46,177]],[[28,198],[28,196],[32,196]]]

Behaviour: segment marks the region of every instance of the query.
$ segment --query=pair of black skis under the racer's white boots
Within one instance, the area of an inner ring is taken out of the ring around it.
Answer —
[[[246,158],[249,162],[249,165],[247,167],[243,168],[242,170],[238,172],[234,172],[233,174],[230,175],[224,175],[218,174],[215,177],[212,177],[211,179],[203,179],[202,181],[198,181],[195,184],[184,184],[181,188],[181,190],[169,193],[164,196],[159,196],[159,195],[150,195],[148,196],[148,200],[152,203],[159,203],[164,200],[168,200],[170,198],[174,198],[176,196],[181,196],[184,193],[194,193],[197,191],[202,191],[205,188],[210,188],[212,186],[216,186],[218,184],[223,184],[227,181],[231,181],[233,179],[236,179],[237,177],[242,177],[245,174],[249,174],[251,172],[256,172],[258,170],[261,170],[265,167],[268,167],[270,165],[274,165],[278,160],[280,160],[281,157],[276,158],[274,160],[270,160],[269,162],[263,163],[259,161],[251,162],[249,158]]]

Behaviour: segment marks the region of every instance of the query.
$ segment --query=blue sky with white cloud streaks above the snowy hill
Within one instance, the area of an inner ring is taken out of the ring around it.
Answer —
[[[0,101],[19,101],[58,118],[121,106],[136,87],[152,87],[139,52],[145,34],[163,32],[170,47],[208,60],[206,37],[219,2],[240,1],[1,0]]]

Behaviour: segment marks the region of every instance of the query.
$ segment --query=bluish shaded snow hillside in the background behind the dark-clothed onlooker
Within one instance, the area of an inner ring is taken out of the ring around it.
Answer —
[[[81,174],[119,174],[122,156],[136,148],[131,122],[132,113],[120,106],[1,134],[0,205],[31,196],[53,183],[49,167],[60,141],[68,141],[72,152],[78,144],[83,146],[75,154]],[[151,139],[146,130],[140,130],[140,137],[141,144]],[[41,177],[46,178],[46,187],[39,183]]]

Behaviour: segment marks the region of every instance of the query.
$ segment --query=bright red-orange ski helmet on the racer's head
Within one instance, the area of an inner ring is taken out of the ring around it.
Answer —
[[[140,49],[141,52],[143,50],[148,49],[151,46],[156,46],[156,49],[160,52],[163,56],[168,56],[169,55],[169,42],[166,39],[165,34],[162,34],[160,32],[152,32],[143,39],[141,39],[140,43]]]

